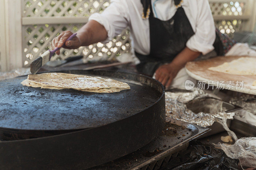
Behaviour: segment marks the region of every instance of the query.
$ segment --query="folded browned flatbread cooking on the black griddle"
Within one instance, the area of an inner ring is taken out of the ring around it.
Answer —
[[[67,73],[42,73],[28,75],[22,85],[45,89],[76,89],[85,92],[111,93],[130,89],[127,83],[110,78],[91,77]]]

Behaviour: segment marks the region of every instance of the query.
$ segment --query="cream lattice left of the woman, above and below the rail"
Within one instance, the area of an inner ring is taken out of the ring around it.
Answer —
[[[23,0],[23,17],[89,17],[94,12],[101,13],[109,6],[108,0]],[[65,30],[75,33],[85,23],[81,24],[58,24],[52,25],[43,23],[42,25],[23,26],[23,49],[24,66],[29,66],[33,57],[39,56],[45,50],[51,48],[51,41],[55,36]],[[52,60],[65,59],[71,55],[84,55],[87,59],[95,58],[111,59],[122,53],[128,53],[131,49],[130,33],[124,30],[121,35],[115,37],[107,44],[96,43],[88,47],[80,47],[74,50],[61,49],[60,55],[54,55]],[[99,56],[99,57],[97,57]],[[105,56],[105,57],[104,57]]]

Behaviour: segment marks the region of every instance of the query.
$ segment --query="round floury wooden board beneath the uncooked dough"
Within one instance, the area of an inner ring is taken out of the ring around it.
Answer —
[[[224,82],[222,84],[225,89],[256,95],[256,90],[251,89],[251,85],[253,81],[256,80],[256,76],[232,75],[208,70],[209,67],[215,67],[223,64],[224,62],[231,62],[232,60],[238,59],[240,57],[242,56],[219,56],[204,61],[188,62],[185,67],[188,75],[192,78],[195,78],[196,80],[206,81],[205,83],[207,84],[210,82],[211,85],[216,87],[218,85],[220,86],[220,82]],[[232,88],[230,88],[229,81],[234,82]],[[242,81],[244,81],[243,88],[236,88],[236,82]]]

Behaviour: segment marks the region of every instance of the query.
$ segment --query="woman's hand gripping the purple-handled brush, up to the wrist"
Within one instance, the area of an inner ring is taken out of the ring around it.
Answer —
[[[76,49],[82,46],[82,43],[77,36],[75,36],[72,40],[69,40],[64,44],[64,42],[72,34],[73,33],[71,31],[63,31],[62,33],[60,33],[60,35],[58,35],[52,40],[52,49],[60,48],[62,46],[63,48],[67,48],[67,49]],[[60,55],[60,50],[56,51],[56,54]]]

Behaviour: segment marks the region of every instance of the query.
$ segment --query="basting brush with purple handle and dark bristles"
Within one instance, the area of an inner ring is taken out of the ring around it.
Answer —
[[[71,35],[70,37],[68,37],[68,39],[66,41],[72,40],[74,37],[76,36],[76,33],[74,33],[73,35]],[[65,42],[66,42],[65,41]],[[64,42],[64,44],[65,44]],[[63,45],[64,45],[63,44]],[[61,48],[61,47],[60,47]],[[31,64],[30,64],[30,72],[32,74],[36,74],[37,71],[45,64],[47,63],[52,55],[59,50],[60,48],[55,48],[54,50],[47,50],[45,51],[41,56],[39,56],[38,58],[36,58],[36,60],[34,60]]]

